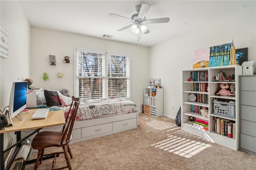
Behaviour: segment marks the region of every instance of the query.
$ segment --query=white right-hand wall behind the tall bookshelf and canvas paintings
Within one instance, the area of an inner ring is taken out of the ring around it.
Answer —
[[[166,117],[175,119],[182,104],[182,70],[192,69],[194,50],[230,43],[233,38],[236,49],[248,47],[248,61],[256,61],[255,25],[255,10],[243,11],[232,18],[220,18],[218,23],[202,30],[150,47],[150,75],[161,78]]]

